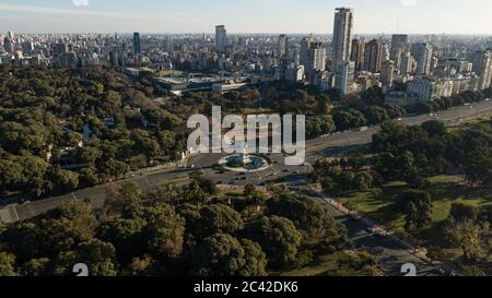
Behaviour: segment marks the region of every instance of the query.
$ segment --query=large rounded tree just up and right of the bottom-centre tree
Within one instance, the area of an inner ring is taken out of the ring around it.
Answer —
[[[260,243],[269,266],[284,269],[295,263],[302,235],[290,219],[278,216],[261,217],[249,224],[244,235]]]

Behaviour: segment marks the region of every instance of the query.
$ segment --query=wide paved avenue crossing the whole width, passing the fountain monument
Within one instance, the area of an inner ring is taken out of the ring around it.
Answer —
[[[437,119],[444,121],[447,126],[456,126],[461,121],[469,121],[472,119],[481,118],[492,114],[492,102],[482,102],[473,104],[472,106],[462,106],[452,110],[446,110],[437,114]],[[401,119],[405,124],[420,124],[433,119],[433,117],[423,115],[417,117],[408,117]],[[379,130],[379,127],[368,128],[364,131],[348,131],[326,138],[319,138],[316,140],[309,140],[306,142],[306,165],[313,164],[316,159],[323,156],[337,156],[341,155],[348,147],[368,144],[372,141],[372,135]],[[215,154],[202,154],[191,157],[188,160],[188,166],[194,166],[194,169],[172,169],[172,170],[157,170],[154,172],[148,172],[142,175],[136,175],[136,177],[129,178],[126,181],[136,181],[143,189],[156,186],[159,183],[167,181],[176,181],[179,183],[186,183],[187,175],[196,169],[202,169],[206,172],[206,177],[213,179],[216,182],[223,184],[236,184],[244,186],[247,183],[261,184],[268,180],[274,180],[282,177],[289,177],[290,179],[302,180],[302,175],[308,171],[308,166],[285,166],[283,164],[282,155],[270,155],[273,164],[272,166],[262,172],[253,172],[242,176],[236,172],[219,172],[211,167],[223,155]],[[173,180],[176,179],[176,180]],[[119,181],[121,182],[121,181]],[[0,201],[0,220],[12,223],[31,218],[33,216],[43,214],[49,210],[52,210],[60,205],[66,200],[84,200],[89,199],[94,207],[101,208],[107,195],[107,190],[113,183],[97,186],[94,188],[82,189],[73,193],[60,195],[56,198],[49,198],[36,202],[28,202],[24,204],[13,205],[8,207],[5,202]],[[9,202],[11,204],[11,202]]]

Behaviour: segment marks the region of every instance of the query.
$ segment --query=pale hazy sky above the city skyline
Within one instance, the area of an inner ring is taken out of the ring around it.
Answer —
[[[0,34],[331,34],[338,7],[355,34],[492,35],[492,0],[0,0]]]

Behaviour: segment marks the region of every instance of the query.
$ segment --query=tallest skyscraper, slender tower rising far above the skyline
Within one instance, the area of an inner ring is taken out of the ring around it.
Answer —
[[[350,60],[350,49],[353,36],[353,10],[338,8],[335,10],[332,59],[333,64],[338,61]]]

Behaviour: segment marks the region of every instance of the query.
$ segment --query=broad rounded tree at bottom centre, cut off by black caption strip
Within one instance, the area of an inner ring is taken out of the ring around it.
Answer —
[[[194,251],[190,273],[199,276],[265,276],[266,264],[265,253],[257,243],[215,234]]]

